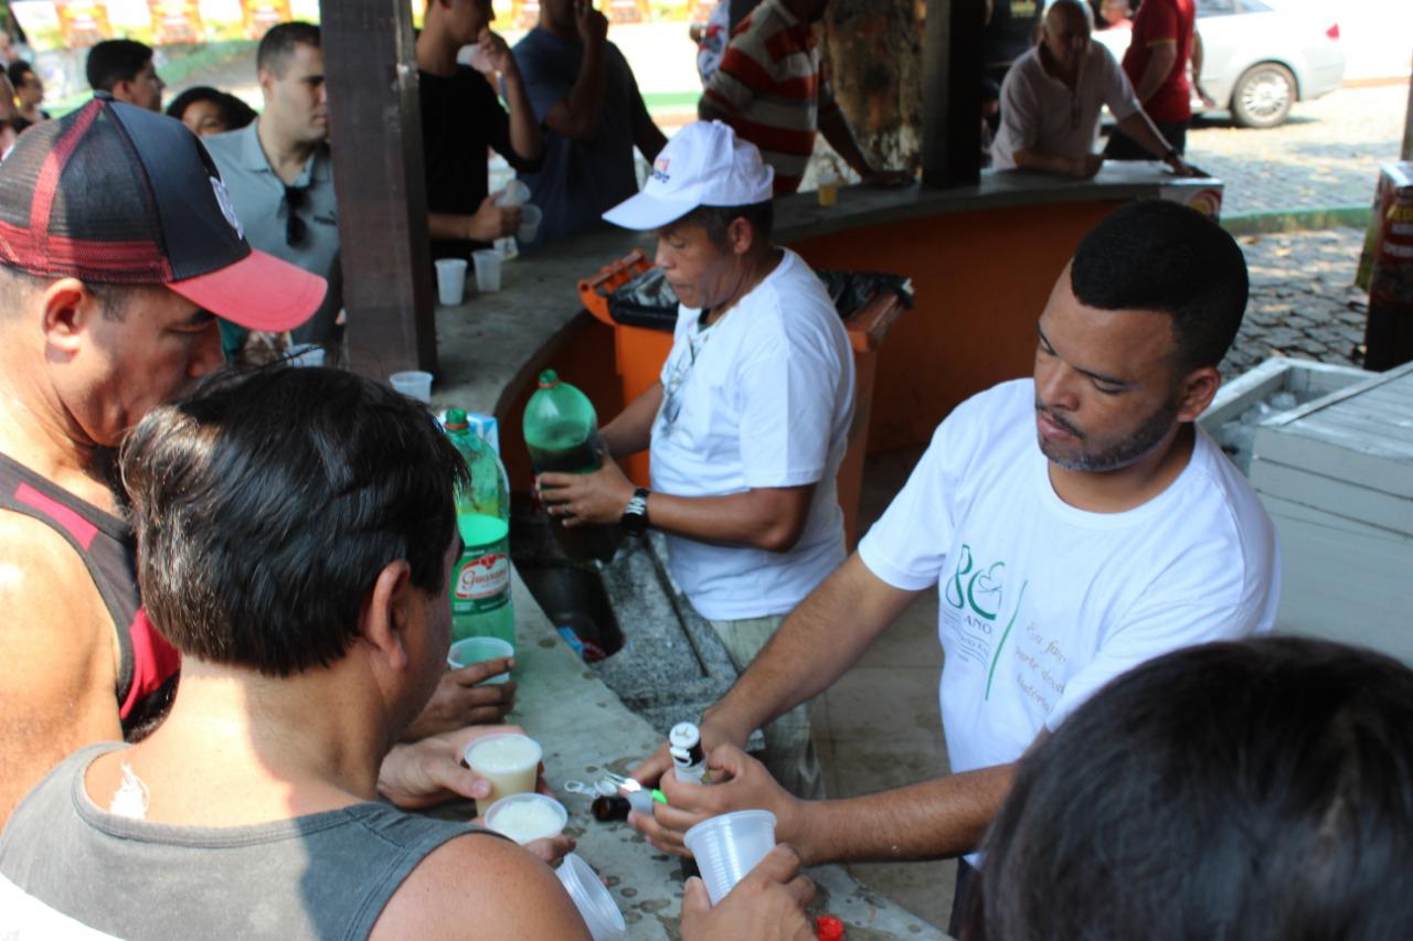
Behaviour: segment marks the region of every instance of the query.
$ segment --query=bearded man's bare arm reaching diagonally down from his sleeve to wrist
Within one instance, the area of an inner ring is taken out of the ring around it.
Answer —
[[[916,596],[855,552],[794,609],[704,725],[745,747],[752,729],[828,690]]]

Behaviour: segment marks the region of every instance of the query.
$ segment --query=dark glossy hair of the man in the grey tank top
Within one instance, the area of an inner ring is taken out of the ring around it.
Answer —
[[[122,451],[143,605],[184,654],[287,677],[338,661],[379,572],[444,589],[465,462],[410,398],[352,373],[226,376]]]

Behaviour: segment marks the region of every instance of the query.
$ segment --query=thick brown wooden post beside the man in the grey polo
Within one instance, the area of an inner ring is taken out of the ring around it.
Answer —
[[[350,366],[437,372],[411,0],[324,0]]]

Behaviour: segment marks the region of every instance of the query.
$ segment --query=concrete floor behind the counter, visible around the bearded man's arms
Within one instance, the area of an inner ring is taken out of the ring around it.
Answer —
[[[887,509],[921,455],[916,448],[868,459],[859,506],[865,530]],[[870,794],[947,771],[937,704],[941,668],[934,588],[817,702],[814,738],[829,797]],[[849,872],[913,914],[947,927],[954,862],[866,863]]]

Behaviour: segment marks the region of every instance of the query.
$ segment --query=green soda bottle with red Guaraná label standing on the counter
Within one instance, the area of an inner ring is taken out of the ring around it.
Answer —
[[[447,411],[447,437],[466,461],[471,483],[456,487],[456,528],[465,544],[451,591],[451,637],[516,643],[510,605],[510,486],[495,449],[471,430],[466,413]]]

